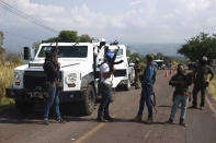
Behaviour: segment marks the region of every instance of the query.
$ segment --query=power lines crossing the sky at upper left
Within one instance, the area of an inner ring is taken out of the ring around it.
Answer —
[[[0,0],[0,7],[2,9],[4,9],[4,10],[11,12],[12,14],[18,15],[18,16],[20,16],[22,19],[25,19],[25,20],[36,24],[37,26],[41,26],[41,27],[43,27],[43,28],[45,28],[45,29],[47,29],[49,32],[58,33],[58,31],[56,31],[56,29],[43,24],[44,23],[43,21],[41,21],[38,19],[35,19],[35,17],[33,17],[33,16],[31,16],[31,15],[29,15],[29,14],[22,12],[22,11],[20,11],[19,9],[12,7],[11,4],[9,4],[8,2],[5,2],[3,0]]]

